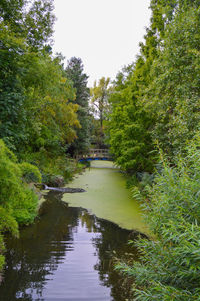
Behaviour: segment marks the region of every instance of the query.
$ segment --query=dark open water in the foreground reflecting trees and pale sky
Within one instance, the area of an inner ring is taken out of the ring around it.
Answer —
[[[129,284],[113,268],[113,254],[134,252],[127,246],[133,234],[60,199],[49,192],[34,225],[19,239],[7,238],[0,300],[132,300]]]

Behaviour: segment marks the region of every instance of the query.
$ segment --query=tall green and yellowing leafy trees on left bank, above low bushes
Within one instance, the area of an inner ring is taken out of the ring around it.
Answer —
[[[63,146],[75,139],[80,127],[78,106],[68,102],[75,93],[62,57],[52,58],[46,45],[53,32],[52,1],[29,4],[0,4],[0,138],[19,157],[42,147],[64,154]]]

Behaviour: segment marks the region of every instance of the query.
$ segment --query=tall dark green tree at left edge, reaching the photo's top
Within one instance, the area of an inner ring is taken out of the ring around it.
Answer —
[[[27,62],[30,56],[33,61],[36,59],[31,54],[33,50],[45,47],[54,22],[51,0],[30,1],[29,6],[27,3],[26,0],[0,3],[0,137],[13,150],[27,141],[24,79],[31,66]]]

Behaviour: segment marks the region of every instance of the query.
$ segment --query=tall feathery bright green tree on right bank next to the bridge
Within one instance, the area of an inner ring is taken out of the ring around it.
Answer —
[[[140,44],[140,55],[134,64],[118,74],[110,96],[111,151],[117,164],[129,173],[151,172],[155,163],[151,138],[154,116],[146,110],[142,99],[152,80],[152,64],[158,56],[160,37],[157,27],[154,23],[154,27],[147,29],[145,42]]]

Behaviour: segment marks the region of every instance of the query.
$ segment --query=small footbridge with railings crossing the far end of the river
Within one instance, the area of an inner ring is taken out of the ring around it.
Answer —
[[[77,161],[112,160],[108,149],[91,148],[88,153],[79,153],[75,156]]]

